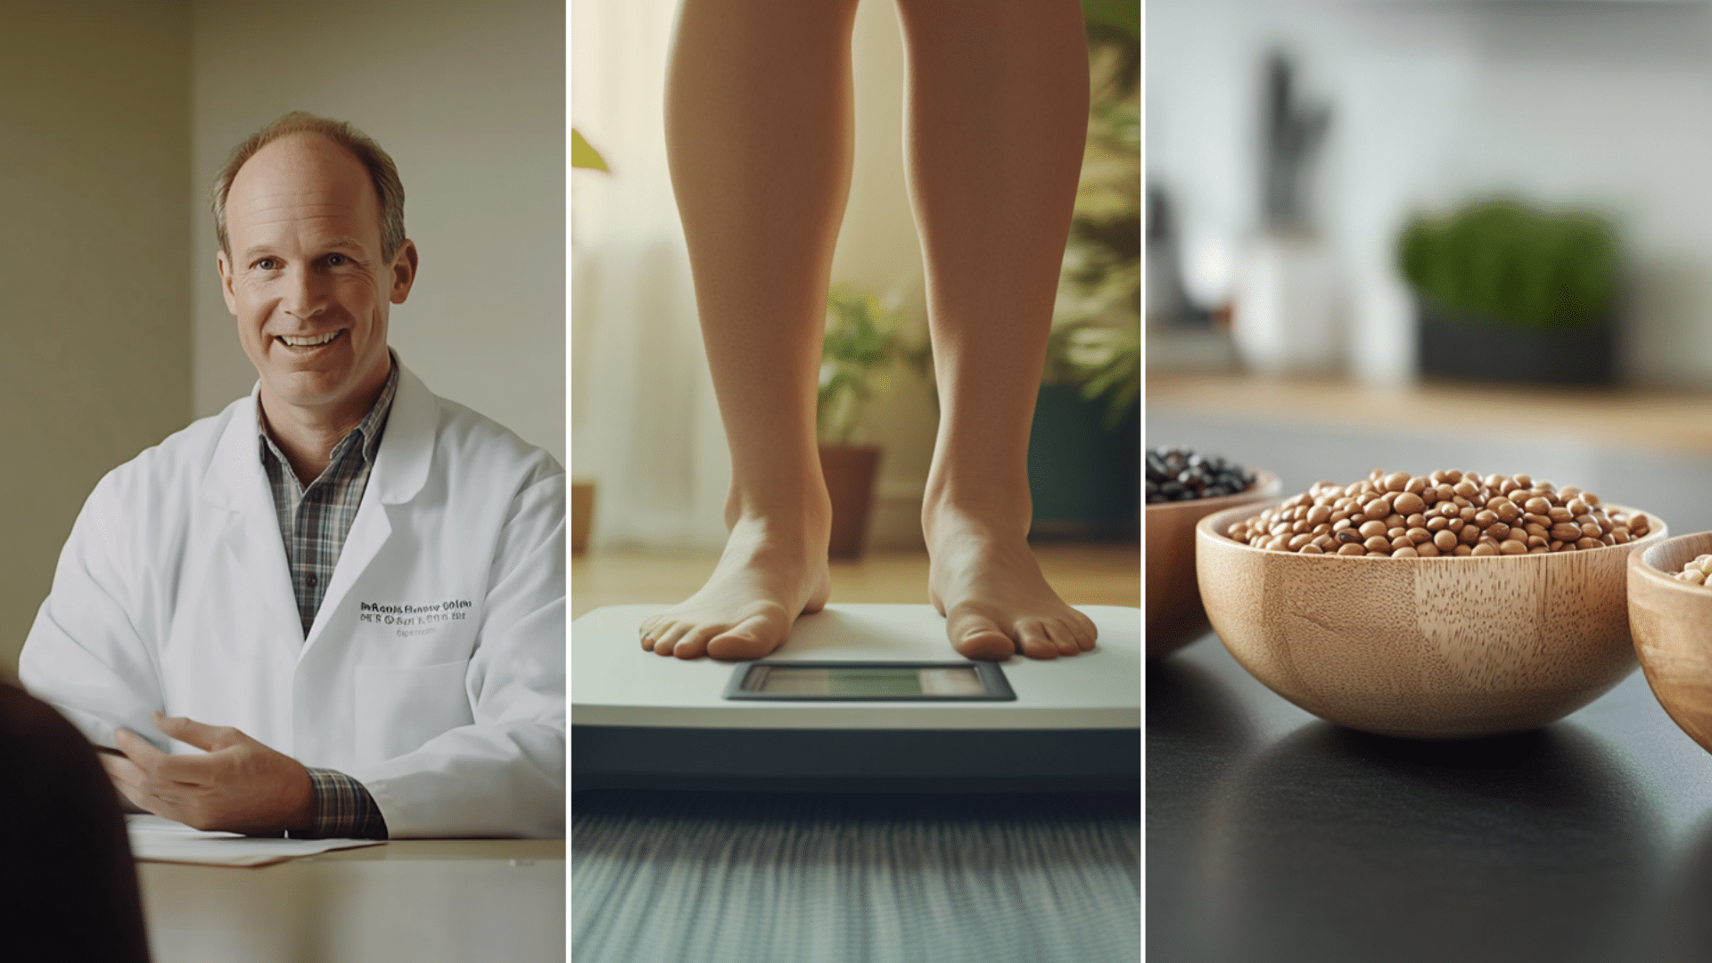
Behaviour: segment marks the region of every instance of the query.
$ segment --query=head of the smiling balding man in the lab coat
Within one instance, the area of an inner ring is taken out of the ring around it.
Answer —
[[[416,278],[411,242],[382,257],[368,170],[325,137],[281,137],[233,178],[226,236],[221,290],[264,411],[360,420],[387,380],[387,312]]]

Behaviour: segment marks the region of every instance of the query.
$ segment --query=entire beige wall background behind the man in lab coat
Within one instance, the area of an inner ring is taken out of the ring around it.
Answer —
[[[421,250],[390,343],[565,458],[558,0],[0,3],[0,677],[96,482],[255,384],[207,192],[308,110],[392,154]]]

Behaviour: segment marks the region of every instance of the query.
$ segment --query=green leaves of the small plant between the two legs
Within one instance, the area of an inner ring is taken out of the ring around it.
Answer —
[[[863,430],[868,403],[892,391],[892,367],[918,374],[931,365],[928,344],[911,344],[902,312],[839,283],[827,295],[827,334],[820,343],[820,396],[815,428],[822,444],[847,446]]]

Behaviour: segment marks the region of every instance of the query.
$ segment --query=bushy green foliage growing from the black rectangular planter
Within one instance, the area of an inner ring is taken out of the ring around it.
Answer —
[[[1448,317],[1503,327],[1602,324],[1618,286],[1611,224],[1515,200],[1412,218],[1397,242],[1397,260],[1416,295]]]

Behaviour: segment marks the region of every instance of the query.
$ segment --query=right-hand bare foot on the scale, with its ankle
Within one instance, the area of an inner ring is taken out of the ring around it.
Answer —
[[[964,658],[1056,658],[1094,648],[1094,620],[1046,584],[1025,535],[954,509],[933,512],[923,529],[933,559],[928,595]]]

